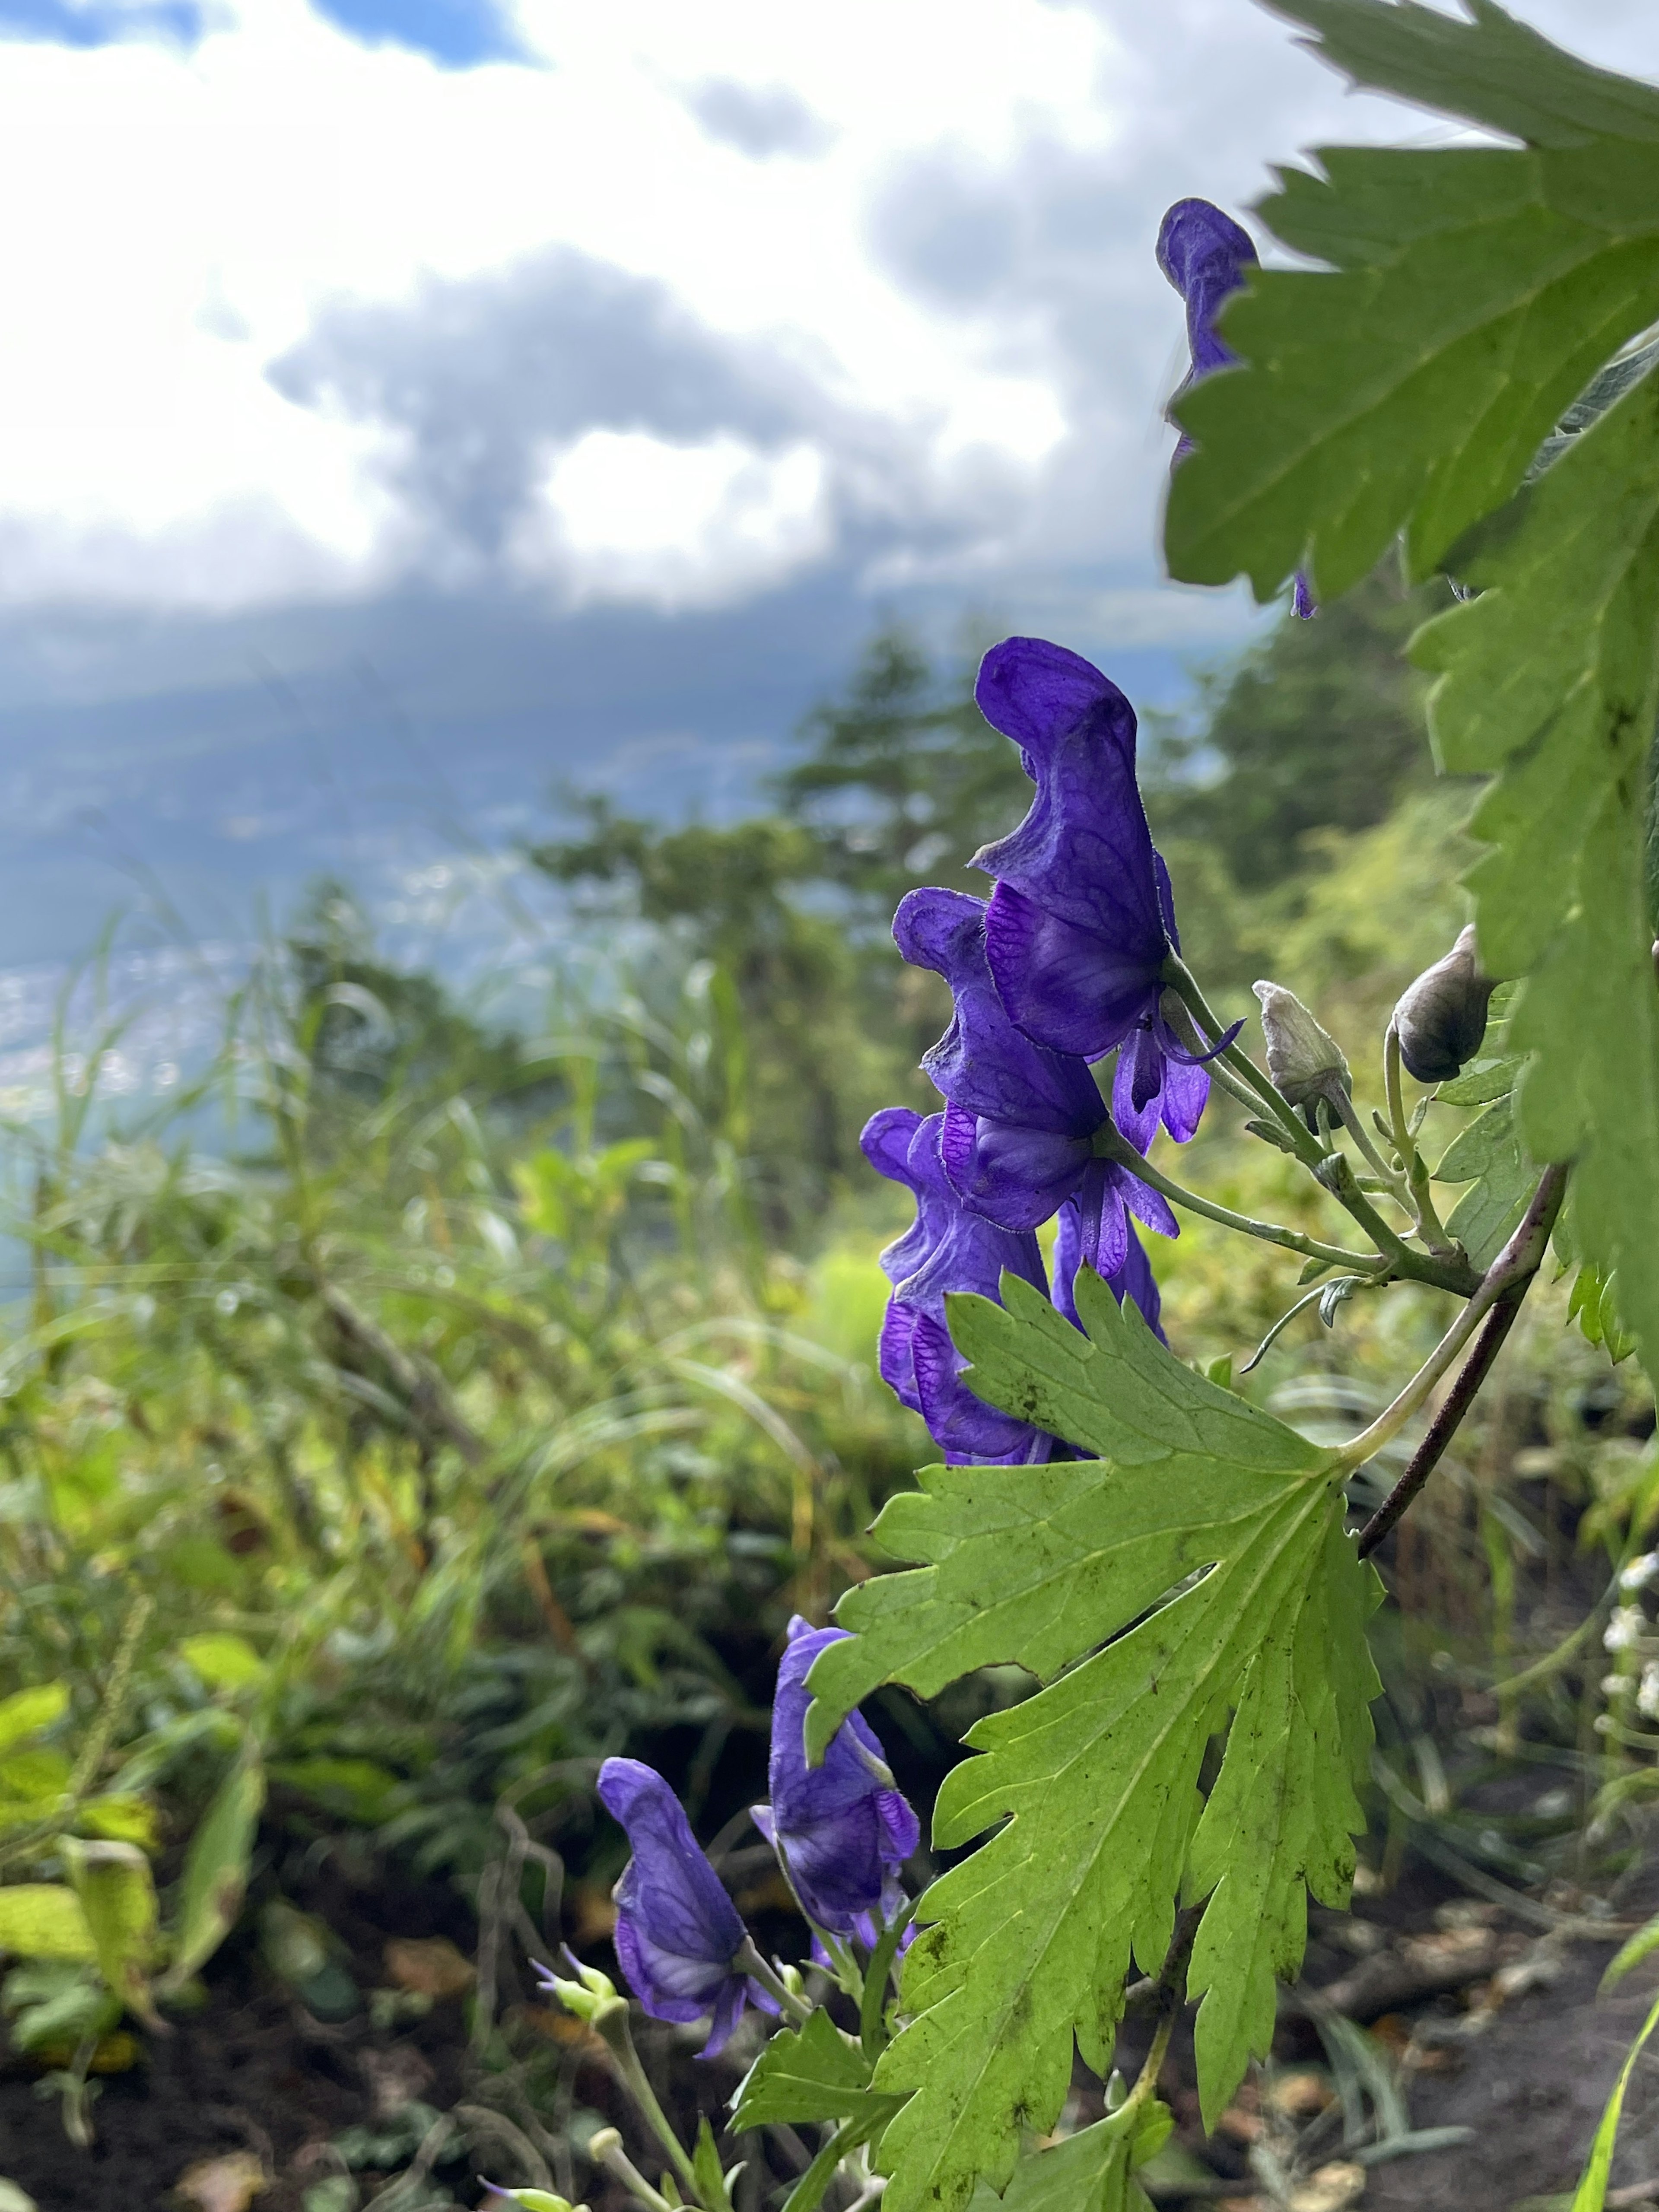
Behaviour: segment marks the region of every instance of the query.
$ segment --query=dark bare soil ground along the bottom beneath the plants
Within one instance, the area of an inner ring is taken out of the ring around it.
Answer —
[[[1659,1882],[1652,1887],[1659,1902]],[[453,1893],[440,1887],[385,1885],[325,1902],[363,1986],[380,1971],[387,1936],[449,1936],[471,1949]],[[1621,1905],[1637,1916],[1648,1909],[1646,1898]],[[1528,2199],[1571,2197],[1606,2093],[1652,2000],[1659,1960],[1610,1997],[1597,1997],[1608,1942],[1540,1944],[1535,1927],[1458,1900],[1451,1885],[1429,1876],[1365,1907],[1365,1920],[1374,1933],[1354,1938],[1336,1916],[1318,1918],[1310,1984],[1363,1993],[1363,1978],[1383,1971],[1378,1960],[1402,1962],[1409,1975],[1425,1958],[1444,1955],[1455,1971],[1460,1947],[1484,1966],[1498,1964],[1475,1982],[1418,1993],[1367,2022],[1380,2046],[1405,2053],[1413,2128],[1469,2126],[1475,2135],[1455,2150],[1374,2166],[1363,2212],[1515,2212]],[[1374,1997],[1387,1995],[1383,1982],[1369,1986]],[[1376,2006],[1360,2002],[1358,2011]],[[1130,2031],[1124,2053],[1130,2064],[1133,2042]],[[1318,2057],[1305,2013],[1287,2002],[1281,2066]],[[1199,2150],[1188,2079],[1188,2059],[1177,2051],[1166,2086],[1186,2141]],[[400,2031],[376,2031],[365,2017],[321,2024],[274,1984],[257,1942],[243,1936],[217,1960],[208,2006],[177,2022],[173,2035],[150,2037],[144,2064],[104,2084],[91,2150],[66,2139],[58,2099],[42,2097],[38,2081],[40,2068],[29,2062],[13,2057],[0,2066],[0,2174],[27,2188],[40,2212],[181,2212],[188,2208],[175,2194],[181,2174],[234,2152],[259,2159],[268,2177],[254,2212],[301,2212],[305,2190],[341,2170],[325,2148],[341,2130],[385,2124],[409,2099],[436,2112],[465,2101],[465,2015],[451,2000]],[[677,2101],[695,2093],[697,2104],[719,2110],[730,2086],[723,2068],[672,2064]],[[597,2068],[582,2070],[577,2095],[586,2106],[611,2106]],[[1241,2110],[1248,2106],[1250,2093]],[[606,2117],[626,2126],[619,2108]],[[1232,2128],[1203,2150],[1206,2163],[1219,2181],[1237,2183],[1237,2197],[1223,2201],[1265,2212],[1267,2199],[1254,2194],[1250,2179],[1248,2110],[1232,2115]],[[487,2159],[484,2170],[518,2179],[502,2174],[500,2159]],[[478,2172],[478,2163],[460,2159],[438,2179],[451,2201],[476,2205]],[[1626,2192],[1652,2181],[1659,2205],[1659,2059],[1644,2064],[1632,2081],[1613,2179]],[[1190,2201],[1214,2203],[1219,2181]],[[385,2177],[361,2172],[358,2185],[367,2205]],[[608,2192],[593,2194],[599,2212],[608,2201]],[[1159,2201],[1179,2203],[1164,2192]]]

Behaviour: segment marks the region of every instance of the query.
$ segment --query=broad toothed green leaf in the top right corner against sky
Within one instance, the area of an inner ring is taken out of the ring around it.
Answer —
[[[1321,597],[1405,531],[1413,577],[1522,482],[1597,369],[1659,316],[1659,95],[1491,0],[1449,24],[1383,0],[1274,0],[1360,84],[1491,122],[1524,150],[1323,148],[1261,215],[1327,270],[1259,270],[1221,319],[1248,367],[1179,403],[1170,573]],[[1455,51],[1455,71],[1442,73]]]

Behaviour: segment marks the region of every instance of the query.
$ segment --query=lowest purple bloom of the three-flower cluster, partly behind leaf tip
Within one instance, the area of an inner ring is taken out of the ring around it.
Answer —
[[[1046,1460],[1055,1440],[1013,1413],[975,1398],[962,1383],[967,1360],[945,1325],[953,1290],[1000,1296],[1004,1267],[1044,1296],[1048,1276],[1031,1230],[1004,1230],[971,1214],[940,1159],[945,1115],[922,1119],[909,1106],[885,1106],[858,1139],[878,1175],[916,1197],[916,1221],[880,1254],[894,1294],[880,1325],[883,1383],[920,1413],[933,1442],[956,1467],[1018,1467]]]

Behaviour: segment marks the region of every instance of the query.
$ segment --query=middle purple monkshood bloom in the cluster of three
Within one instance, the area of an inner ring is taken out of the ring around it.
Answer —
[[[1079,1256],[1110,1276],[1128,1254],[1128,1217],[1179,1237],[1166,1201],[1128,1168],[1095,1155],[1106,1102],[1075,1053],[1053,1053],[1015,1029],[984,958],[984,900],[967,891],[911,891],[894,940],[911,967],[951,987],[951,1026],[922,1055],[945,1097],[940,1157],[962,1203],[1004,1230],[1033,1230],[1068,1199]]]

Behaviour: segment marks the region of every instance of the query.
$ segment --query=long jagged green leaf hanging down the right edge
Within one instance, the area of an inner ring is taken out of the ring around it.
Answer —
[[[1619,1276],[1659,1365],[1659,991],[1646,911],[1659,714],[1659,378],[1628,392],[1471,535],[1482,597],[1418,633],[1455,772],[1498,772],[1473,818],[1482,960],[1528,973],[1511,1042],[1535,1161],[1575,1159],[1573,1225]]]

